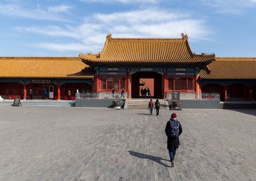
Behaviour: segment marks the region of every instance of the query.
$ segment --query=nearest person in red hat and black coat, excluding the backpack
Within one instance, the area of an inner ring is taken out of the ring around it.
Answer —
[[[179,123],[179,135],[177,137],[175,136],[170,136],[170,132],[172,130],[171,127],[171,121],[175,122],[175,124]],[[177,120],[177,115],[176,113],[172,113],[172,117],[168,122],[166,123],[165,127],[165,134],[167,136],[167,148],[169,150],[169,155],[170,155],[170,161],[172,162],[172,167],[174,166],[173,160],[176,154],[176,149],[179,148],[179,136],[182,133],[182,127],[180,122]]]

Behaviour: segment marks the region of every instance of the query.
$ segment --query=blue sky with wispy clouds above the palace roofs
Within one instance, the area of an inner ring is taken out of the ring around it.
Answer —
[[[256,57],[256,0],[0,0],[0,56],[97,53],[113,38],[181,38],[193,52]]]

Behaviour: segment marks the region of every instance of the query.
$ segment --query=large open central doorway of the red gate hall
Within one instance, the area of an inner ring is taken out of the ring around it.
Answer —
[[[132,74],[131,85],[132,98],[163,98],[163,75],[157,72],[138,71]],[[147,88],[150,95],[145,92],[142,96],[141,89]]]

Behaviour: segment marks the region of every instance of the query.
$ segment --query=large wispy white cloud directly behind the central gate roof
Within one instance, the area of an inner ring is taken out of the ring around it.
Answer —
[[[41,48],[93,53],[102,50],[108,32],[113,34],[113,38],[180,38],[180,33],[186,31],[193,40],[204,39],[209,34],[204,20],[193,19],[184,13],[157,9],[97,13],[85,18],[83,24],[77,27],[17,27],[17,30],[73,38],[79,42],[66,45],[40,43]]]

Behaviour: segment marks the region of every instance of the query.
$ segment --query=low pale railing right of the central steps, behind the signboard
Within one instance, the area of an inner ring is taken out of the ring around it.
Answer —
[[[166,92],[166,99],[172,100],[172,92]],[[191,92],[180,92],[180,100],[217,100],[220,101],[220,94],[196,94]]]

